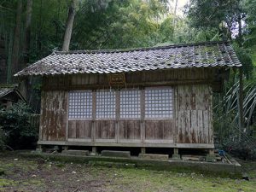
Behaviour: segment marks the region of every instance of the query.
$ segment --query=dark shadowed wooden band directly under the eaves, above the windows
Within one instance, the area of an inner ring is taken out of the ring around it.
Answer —
[[[224,73],[222,69],[205,67],[124,73],[125,84],[112,84],[112,87],[211,84],[215,90],[220,90]],[[49,76],[43,79],[43,90],[108,89],[108,76],[109,74]]]

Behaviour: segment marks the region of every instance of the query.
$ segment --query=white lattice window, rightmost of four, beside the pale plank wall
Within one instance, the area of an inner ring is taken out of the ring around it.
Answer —
[[[145,117],[172,118],[172,88],[145,90]]]

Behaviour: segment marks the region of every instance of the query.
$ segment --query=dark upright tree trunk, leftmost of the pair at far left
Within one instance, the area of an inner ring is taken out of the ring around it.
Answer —
[[[22,14],[22,0],[17,2],[16,10],[16,23],[15,23],[15,38],[12,52],[12,79],[13,75],[20,69],[19,58],[20,58],[20,27],[21,27],[21,15]]]

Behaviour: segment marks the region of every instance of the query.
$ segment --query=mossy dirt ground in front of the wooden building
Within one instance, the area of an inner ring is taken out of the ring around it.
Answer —
[[[0,154],[0,191],[256,191],[256,162],[240,162],[247,170],[249,181],[194,172],[159,172],[26,159],[8,153]]]

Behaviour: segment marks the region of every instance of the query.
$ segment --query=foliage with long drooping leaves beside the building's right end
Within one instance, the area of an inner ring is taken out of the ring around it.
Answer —
[[[223,97],[214,96],[214,131],[217,135],[219,148],[232,151],[242,158],[256,158],[256,127],[252,125],[256,109],[256,83],[252,81],[243,90],[243,119],[242,130],[238,126],[238,91],[236,82]]]

